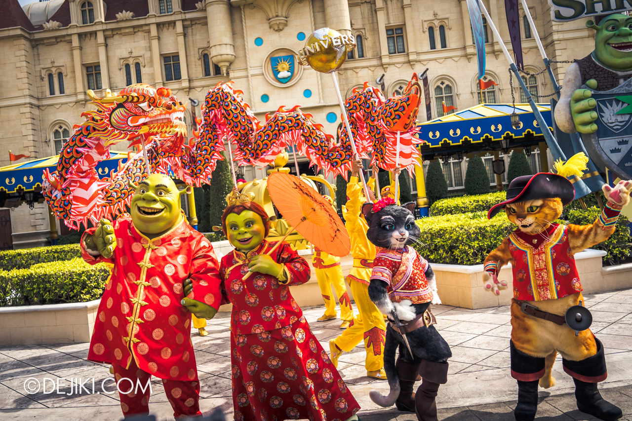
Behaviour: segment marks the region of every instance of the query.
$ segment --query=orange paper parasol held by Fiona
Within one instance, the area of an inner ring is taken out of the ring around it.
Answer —
[[[286,173],[272,173],[268,177],[268,192],[288,224],[314,247],[334,256],[349,254],[351,241],[343,221],[305,181]]]

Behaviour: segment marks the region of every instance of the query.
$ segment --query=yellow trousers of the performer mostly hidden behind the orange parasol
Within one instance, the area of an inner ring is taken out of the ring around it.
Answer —
[[[316,272],[320,295],[325,301],[325,314],[318,321],[336,319],[336,300],[332,300],[331,297],[331,285],[333,284],[340,303],[340,319],[343,320],[340,328],[346,329],[349,326],[349,322],[353,320],[353,307],[351,307],[351,300],[349,300],[347,287],[344,284],[340,258],[316,249],[312,257],[312,265]]]

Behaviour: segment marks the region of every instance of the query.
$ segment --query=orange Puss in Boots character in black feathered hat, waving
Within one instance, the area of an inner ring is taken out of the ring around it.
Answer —
[[[581,157],[572,157],[569,162],[577,159]],[[497,275],[511,262],[514,298],[509,345],[511,376],[518,381],[516,420],[535,418],[538,383],[545,389],[555,385],[551,367],[558,352],[564,371],[573,377],[578,409],[601,420],[617,420],[621,410],[597,390],[597,382],[607,377],[602,343],[590,329],[576,335],[564,315],[569,307],[584,300],[573,256],[612,235],[619,212],[629,202],[632,184],[620,181],[614,189],[604,185],[607,204],[590,225],[552,223],[575,194],[566,178],[569,174],[560,164],[556,163],[559,174],[514,179],[507,188],[507,199],[489,210],[492,218],[504,209],[518,229],[485,258],[483,283],[485,290],[495,294],[506,289],[506,281],[499,281]]]

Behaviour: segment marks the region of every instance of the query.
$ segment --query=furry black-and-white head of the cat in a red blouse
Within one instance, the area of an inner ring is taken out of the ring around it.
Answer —
[[[368,223],[368,240],[383,248],[403,248],[412,244],[421,235],[410,210],[414,207],[415,204],[412,202],[403,206],[389,205],[374,214],[370,212],[370,207],[365,205],[363,214]]]

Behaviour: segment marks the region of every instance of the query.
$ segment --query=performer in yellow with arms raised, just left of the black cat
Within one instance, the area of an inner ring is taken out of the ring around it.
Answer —
[[[368,182],[369,188],[373,188],[373,183],[374,179],[371,178]],[[346,221],[344,225],[351,238],[351,254],[353,255],[353,268],[349,272],[347,281],[358,307],[358,315],[340,336],[329,340],[329,350],[332,362],[337,367],[338,357],[343,351],[351,351],[364,340],[367,351],[365,367],[368,377],[386,379],[384,372],[386,324],[380,310],[368,298],[368,283],[371,278],[373,259],[375,259],[375,246],[367,239],[368,225],[361,212],[364,200],[361,192],[362,185],[358,184],[358,178],[351,176],[347,184],[348,201],[346,207],[343,208],[343,216]]]

